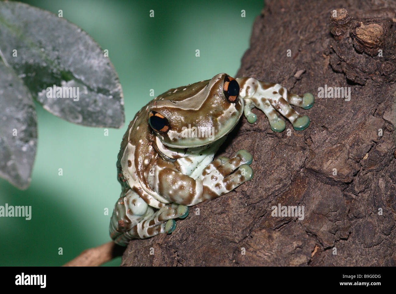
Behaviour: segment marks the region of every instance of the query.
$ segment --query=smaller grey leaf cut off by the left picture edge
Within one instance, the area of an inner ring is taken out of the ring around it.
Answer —
[[[29,90],[2,61],[0,85],[0,176],[26,189],[36,154],[36,111]]]

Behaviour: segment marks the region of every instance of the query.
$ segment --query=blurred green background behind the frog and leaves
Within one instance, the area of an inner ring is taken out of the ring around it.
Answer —
[[[110,241],[109,220],[121,191],[116,157],[129,121],[153,98],[150,89],[157,96],[218,73],[235,75],[263,1],[23,2],[56,14],[63,10],[65,19],[108,49],[124,92],[126,124],[109,129],[109,136],[104,129],[57,118],[36,103],[38,149],[30,187],[19,191],[0,179],[0,205],[32,206],[29,221],[0,218],[0,265],[56,266]],[[120,262],[119,257],[106,265]]]

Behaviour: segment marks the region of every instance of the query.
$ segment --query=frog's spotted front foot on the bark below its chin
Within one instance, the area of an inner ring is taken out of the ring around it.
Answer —
[[[217,198],[251,180],[253,170],[249,164],[252,161],[252,155],[244,149],[235,157],[219,157],[212,161],[200,176],[204,185],[203,200]]]

